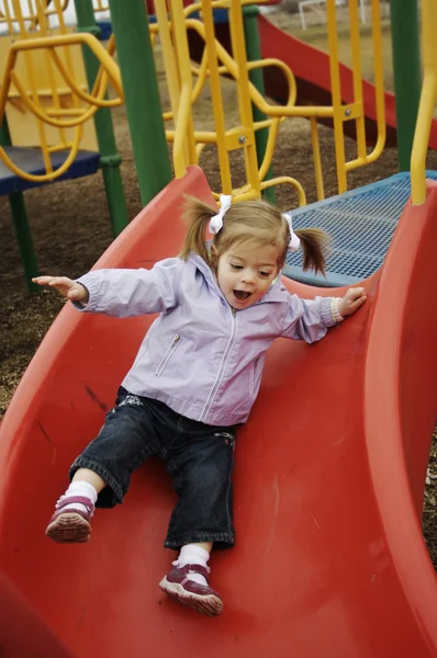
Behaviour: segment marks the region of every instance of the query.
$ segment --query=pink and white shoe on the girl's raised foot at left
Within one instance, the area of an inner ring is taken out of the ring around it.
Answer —
[[[71,503],[80,502],[87,508],[87,511],[71,508],[64,508]],[[88,542],[91,534],[90,519],[94,513],[94,506],[89,498],[83,496],[60,497],[55,507],[51,522],[45,534],[54,542],[60,544],[81,544]]]

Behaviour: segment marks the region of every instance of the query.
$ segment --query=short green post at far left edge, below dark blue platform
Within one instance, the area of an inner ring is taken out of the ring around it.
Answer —
[[[1,146],[11,145],[11,136],[9,134],[5,115],[3,117],[3,123],[0,126],[0,144]],[[9,206],[11,208],[12,220],[15,228],[16,242],[19,245],[26,286],[30,293],[35,293],[41,291],[41,286],[36,285],[36,283],[32,283],[32,276],[38,275],[38,265],[33,248],[23,193],[12,192],[9,195]]]

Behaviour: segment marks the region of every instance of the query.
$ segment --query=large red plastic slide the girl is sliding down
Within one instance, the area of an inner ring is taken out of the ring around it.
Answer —
[[[1,656],[437,657],[437,581],[421,532],[437,416],[437,184],[428,192],[405,208],[382,271],[365,282],[365,307],[314,345],[281,339],[269,351],[237,439],[237,544],[212,557],[217,619],[158,589],[175,502],[158,462],[134,474],[123,506],[98,510],[89,544],[45,537],[68,466],[153,319],[63,309],[0,429]],[[173,180],[97,266],[178,253],[183,193],[211,200],[200,169]]]

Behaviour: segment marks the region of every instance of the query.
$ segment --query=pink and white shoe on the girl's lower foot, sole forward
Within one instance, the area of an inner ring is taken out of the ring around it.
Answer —
[[[163,578],[160,589],[172,597],[179,603],[193,608],[197,612],[206,616],[217,616],[223,610],[223,601],[218,592],[211,589],[209,585],[200,585],[190,580],[187,574],[191,571],[201,574],[208,580],[209,569],[201,565],[184,565],[175,567]]]

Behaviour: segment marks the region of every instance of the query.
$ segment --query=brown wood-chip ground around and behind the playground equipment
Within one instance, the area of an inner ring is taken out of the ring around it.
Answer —
[[[158,78],[163,72],[158,71]],[[163,92],[165,94],[165,91]],[[235,90],[227,86],[224,99],[226,114],[235,113]],[[229,112],[227,113],[227,109]],[[117,146],[123,157],[122,177],[128,217],[141,209],[128,127],[123,107],[114,111]],[[198,107],[198,121],[204,117],[204,107]],[[209,127],[209,121],[197,127]],[[334,160],[334,141],[329,128],[321,128],[321,148],[325,174],[325,194],[337,192]],[[349,158],[355,155],[355,144],[347,140]],[[217,160],[213,149],[205,149],[200,164],[211,186],[220,191]],[[429,152],[427,166],[437,169],[437,152]],[[304,120],[284,122],[280,129],[273,160],[276,173],[292,175],[304,186],[307,201],[315,201],[312,149],[309,125]],[[396,149],[386,149],[372,166],[349,177],[349,186],[357,188],[386,178],[397,171]],[[233,159],[234,185],[244,182],[242,161]],[[294,193],[283,186],[278,189],[278,203],[283,209],[296,205]],[[112,241],[110,219],[101,173],[94,177],[67,181],[25,194],[35,250],[41,273],[65,274],[70,277],[87,272]],[[59,296],[52,292],[29,295],[24,284],[20,256],[16,248],[8,200],[0,198],[0,420],[13,392],[35,353],[41,340],[63,306]],[[433,443],[424,508],[424,534],[437,567],[437,442]]]

